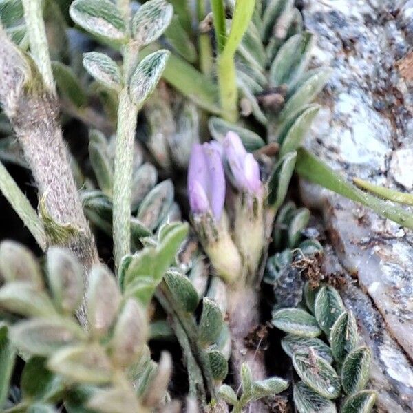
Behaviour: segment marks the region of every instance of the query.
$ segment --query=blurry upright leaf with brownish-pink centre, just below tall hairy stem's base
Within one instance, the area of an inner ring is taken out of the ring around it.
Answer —
[[[86,293],[87,319],[94,335],[107,332],[118,312],[120,299],[114,275],[103,265],[94,266]]]

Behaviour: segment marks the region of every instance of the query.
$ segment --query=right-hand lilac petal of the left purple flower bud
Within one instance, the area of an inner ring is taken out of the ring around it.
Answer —
[[[209,186],[207,196],[215,220],[219,221],[225,202],[225,175],[219,151],[215,145],[204,143],[205,161],[207,163]]]

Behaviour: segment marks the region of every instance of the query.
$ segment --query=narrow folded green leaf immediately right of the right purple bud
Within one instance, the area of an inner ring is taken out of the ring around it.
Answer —
[[[275,165],[271,177],[268,179],[268,203],[273,209],[281,207],[288,187],[290,185],[291,177],[293,176],[295,160],[297,153],[295,151],[286,153]]]

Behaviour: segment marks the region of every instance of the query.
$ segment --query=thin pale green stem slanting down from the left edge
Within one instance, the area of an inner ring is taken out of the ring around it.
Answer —
[[[30,233],[34,236],[37,244],[45,251],[46,248],[46,234],[43,224],[36,211],[33,209],[28,198],[14,182],[14,179],[8,173],[7,169],[0,162],[0,190],[5,198],[10,202],[14,211],[21,218],[25,226],[28,227]]]

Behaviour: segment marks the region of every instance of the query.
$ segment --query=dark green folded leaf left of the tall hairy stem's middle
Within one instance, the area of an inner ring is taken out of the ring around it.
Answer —
[[[89,159],[100,189],[106,195],[112,195],[113,162],[109,157],[105,136],[96,129],[89,131]]]

